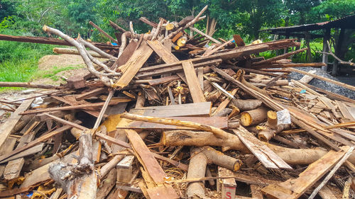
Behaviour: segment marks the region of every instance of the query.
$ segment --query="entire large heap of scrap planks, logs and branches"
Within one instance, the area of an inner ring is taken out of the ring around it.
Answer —
[[[112,49],[44,26],[65,40],[51,42],[76,47],[59,51],[82,56],[88,72],[60,86],[0,82],[41,89],[1,100],[13,113],[0,126],[0,197],[354,195],[354,99],[307,84],[332,81],[315,74],[286,79],[301,72],[293,67],[324,65],[290,62],[305,49],[257,56],[299,47],[293,39],[246,45],[193,28],[206,8],[180,22],[141,18],[153,27],[146,34],[111,22],[116,39],[92,23],[119,44]]]

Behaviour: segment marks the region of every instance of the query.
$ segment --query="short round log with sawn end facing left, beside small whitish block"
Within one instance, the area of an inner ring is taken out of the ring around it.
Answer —
[[[239,122],[245,127],[263,123],[268,118],[267,112],[268,110],[263,106],[254,110],[244,111],[243,113],[241,113],[241,119],[239,120]]]

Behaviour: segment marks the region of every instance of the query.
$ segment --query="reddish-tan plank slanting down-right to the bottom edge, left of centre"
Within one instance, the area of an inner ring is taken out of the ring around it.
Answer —
[[[146,144],[144,144],[141,137],[134,130],[126,130],[126,136],[131,141],[133,151],[137,159],[143,165],[143,168],[148,172],[149,176],[153,179],[154,183],[159,186],[148,188],[148,195],[153,198],[179,198],[174,189],[170,185],[165,185],[166,174],[154,158]]]

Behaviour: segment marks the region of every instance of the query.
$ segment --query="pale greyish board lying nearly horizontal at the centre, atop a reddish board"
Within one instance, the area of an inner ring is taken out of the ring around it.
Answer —
[[[209,117],[211,114],[211,102],[202,103],[184,103],[169,106],[147,106],[134,108],[133,111],[143,112],[144,116],[153,117],[184,117],[200,116]]]

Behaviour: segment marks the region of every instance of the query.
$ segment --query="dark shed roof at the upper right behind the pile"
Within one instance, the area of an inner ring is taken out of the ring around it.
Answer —
[[[270,28],[270,29],[260,30],[260,31],[271,31],[271,33],[273,33],[273,32],[295,33],[295,32],[307,31],[307,30],[320,30],[320,29],[327,29],[327,28],[355,29],[355,15],[345,16],[343,18],[339,18],[334,21],[295,25],[295,26],[289,26],[289,27]]]

